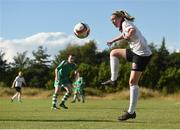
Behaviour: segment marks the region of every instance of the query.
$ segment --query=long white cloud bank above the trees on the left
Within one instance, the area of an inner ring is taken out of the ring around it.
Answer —
[[[13,61],[13,57],[17,52],[22,53],[28,51],[28,57],[32,57],[32,51],[37,50],[37,47],[42,45],[47,48],[47,53],[54,57],[59,50],[63,50],[71,44],[83,45],[89,39],[78,39],[73,35],[66,35],[62,32],[42,32],[24,39],[8,40],[0,37],[0,50],[5,52],[5,59],[8,62]]]

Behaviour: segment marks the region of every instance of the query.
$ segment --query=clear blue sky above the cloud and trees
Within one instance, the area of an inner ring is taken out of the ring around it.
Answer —
[[[121,9],[136,18],[134,24],[149,43],[159,45],[165,37],[169,49],[180,49],[180,0],[0,0],[0,42],[18,45],[17,41],[49,32],[73,39],[74,25],[84,21],[91,28],[88,38],[105,49],[106,41],[120,33],[109,18]],[[0,48],[8,50],[4,46]]]

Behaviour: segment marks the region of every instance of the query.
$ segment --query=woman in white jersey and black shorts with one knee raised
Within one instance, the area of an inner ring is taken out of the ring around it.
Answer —
[[[132,23],[134,17],[130,16],[126,11],[115,11],[111,15],[111,21],[116,28],[121,32],[121,35],[108,41],[107,44],[126,39],[130,45],[130,49],[114,49],[110,53],[110,67],[111,79],[103,82],[102,85],[115,85],[118,77],[119,58],[125,58],[132,62],[132,69],[129,78],[130,86],[130,104],[128,111],[118,120],[128,120],[129,118],[136,118],[136,104],[138,100],[138,82],[142,72],[145,70],[152,52],[147,45],[147,41],[138,28]]]

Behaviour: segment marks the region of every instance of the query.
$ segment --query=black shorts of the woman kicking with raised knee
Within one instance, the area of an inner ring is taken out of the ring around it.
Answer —
[[[126,49],[126,59],[129,62],[136,64],[136,68],[132,68],[134,71],[144,71],[147,64],[149,63],[152,55],[150,56],[139,56],[133,53],[130,49]]]

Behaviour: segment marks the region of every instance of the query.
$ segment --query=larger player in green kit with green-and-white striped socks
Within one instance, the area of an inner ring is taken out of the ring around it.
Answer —
[[[66,90],[65,95],[62,98],[62,101],[60,103],[60,107],[64,109],[68,109],[67,106],[65,106],[65,102],[69,98],[69,96],[72,93],[72,84],[70,82],[70,73],[75,72],[76,70],[76,64],[74,63],[74,56],[69,55],[68,60],[63,60],[58,67],[55,69],[55,82],[54,87],[55,91],[52,97],[52,109],[59,109],[57,104],[57,97],[58,93],[60,92],[60,89],[63,87]]]

